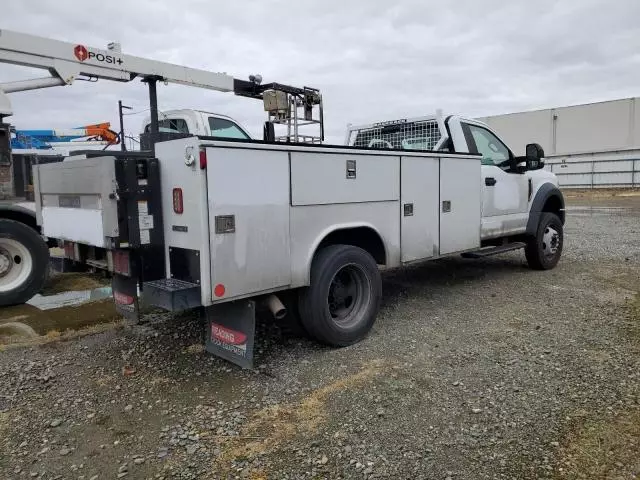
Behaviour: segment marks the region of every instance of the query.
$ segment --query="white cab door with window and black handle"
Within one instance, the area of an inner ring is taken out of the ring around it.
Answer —
[[[482,155],[482,238],[520,233],[527,225],[529,186],[527,176],[510,171],[513,154],[487,128],[463,123],[472,153]]]

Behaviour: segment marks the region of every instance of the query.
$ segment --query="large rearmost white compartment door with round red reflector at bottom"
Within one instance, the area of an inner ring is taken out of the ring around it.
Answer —
[[[291,283],[289,154],[207,147],[213,301]]]

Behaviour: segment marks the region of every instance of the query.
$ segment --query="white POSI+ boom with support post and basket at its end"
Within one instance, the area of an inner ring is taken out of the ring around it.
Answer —
[[[130,82],[138,78],[148,84],[151,134],[158,133],[156,85],[162,81],[262,99],[268,113],[266,139],[314,142],[324,139],[322,96],[318,90],[278,83],[263,85],[259,75],[252,75],[249,81],[239,80],[226,73],[125,55],[118,43],[110,43],[104,50],[6,29],[0,29],[0,63],[38,68],[50,74],[48,77],[0,84],[0,121],[13,114],[7,93],[71,85],[76,80]],[[315,119],[312,114],[314,106],[319,106],[320,110],[319,118]],[[302,114],[298,113],[299,109],[302,109]],[[274,124],[286,125],[287,135],[275,137]],[[319,135],[298,135],[299,126],[312,124],[320,127]]]

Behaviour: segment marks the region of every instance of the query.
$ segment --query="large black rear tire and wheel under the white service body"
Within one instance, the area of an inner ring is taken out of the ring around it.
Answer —
[[[367,336],[380,309],[382,281],[375,260],[351,245],[316,254],[311,284],[300,292],[300,316],[309,335],[334,347]]]

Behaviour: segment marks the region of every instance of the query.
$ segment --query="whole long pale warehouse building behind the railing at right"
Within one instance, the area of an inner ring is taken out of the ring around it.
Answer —
[[[640,186],[640,97],[480,118],[523,155],[544,148],[565,187]]]

